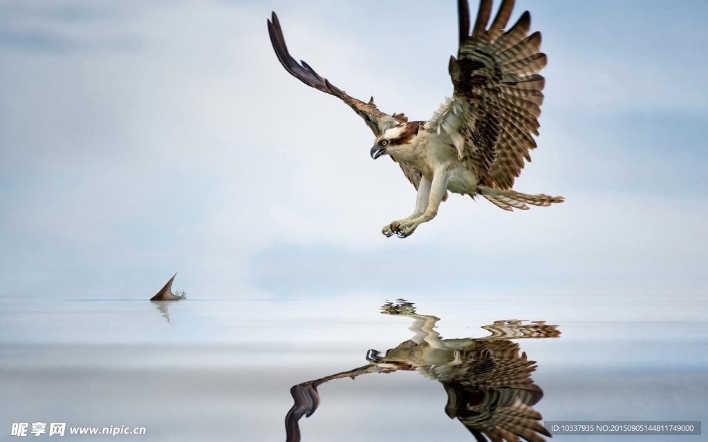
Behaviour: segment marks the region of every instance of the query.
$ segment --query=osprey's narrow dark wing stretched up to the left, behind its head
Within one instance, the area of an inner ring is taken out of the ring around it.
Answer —
[[[396,124],[408,121],[408,118],[406,118],[404,114],[388,115],[387,113],[381,112],[374,104],[373,97],[369,100],[369,103],[364,103],[362,100],[347,95],[346,92],[342,91],[340,88],[333,86],[327,78],[317,74],[309,64],[302,60],[300,63],[295,61],[295,59],[290,56],[290,52],[287,52],[285,37],[282,36],[280,21],[278,21],[278,16],[275,15],[275,12],[273,12],[272,21],[268,20],[268,33],[270,34],[270,42],[273,43],[275,54],[278,56],[280,64],[282,64],[286,71],[290,72],[292,76],[302,81],[302,83],[307,84],[307,86],[334,95],[340,98],[344,103],[347,103],[357,115],[364,119],[366,125],[376,136],[396,126]],[[406,178],[408,178],[413,186],[416,187],[416,190],[418,190],[418,184],[421,182],[421,174],[418,173],[410,163],[404,161],[399,161],[398,163],[406,175]]]

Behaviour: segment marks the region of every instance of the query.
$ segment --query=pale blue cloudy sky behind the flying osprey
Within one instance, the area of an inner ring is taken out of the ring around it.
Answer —
[[[474,2],[473,2],[474,3]],[[476,5],[472,5],[476,10]],[[0,2],[0,296],[708,291],[708,4],[518,1],[549,64],[509,213],[415,191],[290,52],[384,112],[452,93],[455,1]]]

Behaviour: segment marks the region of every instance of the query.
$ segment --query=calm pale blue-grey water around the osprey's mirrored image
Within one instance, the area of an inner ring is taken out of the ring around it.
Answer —
[[[417,306],[442,318],[435,331],[445,339],[484,337],[489,332],[480,327],[499,318],[553,316],[548,323],[560,325],[561,339],[519,342],[537,361],[532,378],[545,396],[535,409],[544,419],[704,419],[705,322],[639,320],[630,317],[631,305],[608,302],[616,315],[625,310],[627,320],[592,318],[590,305],[582,303],[554,310],[550,302],[513,306],[442,297]],[[77,425],[140,421],[152,428],[147,440],[189,441],[196,434],[219,440],[229,431],[249,440],[282,439],[292,385],[365,365],[369,349],[384,351],[411,338],[410,318],[381,315],[380,304],[375,296],[188,298],[164,307],[168,322],[144,300],[4,301],[0,393],[13,401],[3,402],[0,414],[8,421],[67,419]],[[645,314],[668,309],[645,308]],[[544,309],[554,314],[542,315]],[[300,422],[302,440],[358,440],[372,429],[382,438],[471,439],[445,416],[445,390],[411,374],[321,385],[321,406]],[[164,414],[164,407],[179,412]],[[420,423],[415,430],[402,426],[396,433],[389,424],[411,420]],[[224,427],[224,421],[230,424]]]

